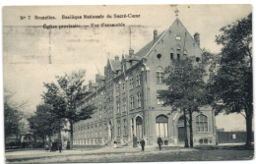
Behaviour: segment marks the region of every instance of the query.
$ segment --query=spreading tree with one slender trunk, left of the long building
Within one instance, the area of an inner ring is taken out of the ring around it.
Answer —
[[[53,106],[53,111],[60,121],[64,119],[69,122],[71,148],[73,146],[73,125],[81,120],[91,118],[96,109],[93,105],[77,109],[78,103],[89,94],[82,89],[85,76],[86,72],[82,70],[72,72],[70,75],[57,76],[57,84],[44,83],[47,88],[43,94],[44,102]]]

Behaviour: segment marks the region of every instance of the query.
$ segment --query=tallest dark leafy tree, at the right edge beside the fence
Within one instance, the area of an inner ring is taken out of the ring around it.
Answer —
[[[252,14],[221,28],[216,42],[223,45],[211,82],[219,112],[240,113],[246,120],[246,145],[252,141]]]

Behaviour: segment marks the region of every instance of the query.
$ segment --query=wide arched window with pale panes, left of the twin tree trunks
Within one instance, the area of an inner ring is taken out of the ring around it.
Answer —
[[[168,118],[160,115],[156,118],[157,137],[168,137]]]

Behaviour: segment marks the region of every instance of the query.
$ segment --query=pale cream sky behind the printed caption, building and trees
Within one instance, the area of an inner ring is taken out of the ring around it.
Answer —
[[[151,6],[51,6],[5,7],[3,9],[4,86],[16,92],[16,101],[28,101],[24,111],[32,113],[41,102],[43,82],[55,76],[86,69],[87,82],[103,74],[107,57],[135,53],[159,33],[171,26],[179,10],[179,20],[191,35],[200,33],[201,48],[218,53],[215,42],[220,28],[246,17],[251,5],[151,5]],[[62,15],[140,15],[140,18],[103,20],[62,20]],[[26,16],[26,20],[21,20]],[[31,16],[31,20],[28,20]],[[56,20],[33,20],[34,16],[54,16]],[[83,29],[44,29],[46,25],[125,24],[125,27],[87,27]],[[28,27],[39,26],[39,27]],[[131,34],[129,34],[131,31]],[[49,34],[50,33],[50,34]],[[48,56],[51,54],[51,64]],[[97,71],[98,68],[98,71]],[[226,124],[228,123],[228,124]],[[218,128],[245,130],[242,115],[217,116]]]

